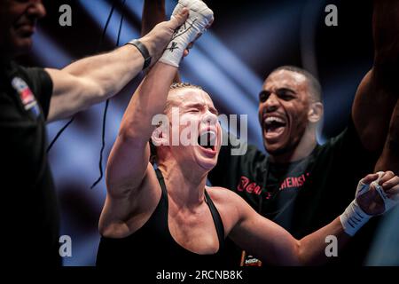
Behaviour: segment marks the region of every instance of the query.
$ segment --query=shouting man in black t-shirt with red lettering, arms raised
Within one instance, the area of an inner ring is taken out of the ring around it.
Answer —
[[[212,185],[239,193],[262,216],[301,238],[330,222],[352,199],[353,192],[342,190],[341,184],[354,188],[356,180],[374,168],[397,172],[398,8],[397,1],[375,1],[374,64],[356,91],[348,127],[340,135],[317,144],[317,122],[323,115],[320,85],[301,68],[279,67],[266,78],[259,95],[268,155],[243,146],[246,153],[233,156],[231,146],[226,146],[208,176]],[[332,264],[363,264],[375,226],[356,235],[339,257],[332,257]],[[240,256],[236,259],[241,264],[256,262],[245,252]]]

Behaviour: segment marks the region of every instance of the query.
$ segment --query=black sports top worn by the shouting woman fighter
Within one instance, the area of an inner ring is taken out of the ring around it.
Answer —
[[[168,192],[160,170],[155,170],[162,190],[160,202],[153,215],[135,233],[126,238],[113,239],[101,237],[98,247],[98,266],[133,267],[221,267],[223,265],[224,227],[222,218],[210,199],[205,198],[214,219],[219,250],[213,255],[200,255],[180,246],[168,228]]]

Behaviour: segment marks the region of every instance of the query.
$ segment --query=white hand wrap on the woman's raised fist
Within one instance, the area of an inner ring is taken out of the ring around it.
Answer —
[[[160,57],[160,62],[179,67],[183,58],[184,50],[189,43],[192,43],[197,36],[204,33],[207,26],[214,20],[214,12],[200,0],[179,0],[173,11],[172,17],[183,8],[190,11],[189,17],[172,36],[168,47]]]

